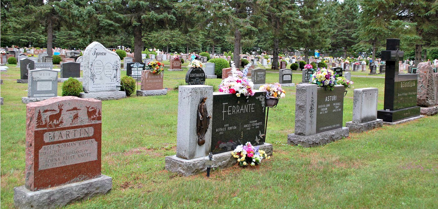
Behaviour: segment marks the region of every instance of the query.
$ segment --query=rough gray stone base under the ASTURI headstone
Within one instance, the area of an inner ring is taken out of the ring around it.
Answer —
[[[287,143],[292,145],[300,144],[303,147],[316,147],[324,144],[329,144],[332,141],[336,141],[348,136],[349,128],[342,127],[335,130],[324,131],[318,134],[312,134],[309,136],[288,134]]]

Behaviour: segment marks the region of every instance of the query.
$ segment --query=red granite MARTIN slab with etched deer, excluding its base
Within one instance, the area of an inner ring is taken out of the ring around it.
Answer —
[[[63,96],[26,105],[26,188],[101,175],[102,101]]]

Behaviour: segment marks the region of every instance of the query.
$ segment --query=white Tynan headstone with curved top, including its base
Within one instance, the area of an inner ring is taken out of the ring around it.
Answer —
[[[120,85],[120,57],[99,42],[85,48],[83,77],[81,98],[109,100],[126,97],[126,93],[117,88]]]

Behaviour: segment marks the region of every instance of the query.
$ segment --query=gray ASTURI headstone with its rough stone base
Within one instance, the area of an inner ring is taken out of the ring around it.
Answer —
[[[288,143],[313,147],[348,137],[343,127],[344,90],[342,85],[333,91],[316,84],[297,85],[295,133],[288,134]]]

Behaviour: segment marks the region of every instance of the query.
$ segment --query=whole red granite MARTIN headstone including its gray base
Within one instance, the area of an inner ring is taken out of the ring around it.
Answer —
[[[55,209],[111,190],[111,177],[101,174],[102,101],[55,97],[26,112],[26,178],[14,188],[16,207]]]

